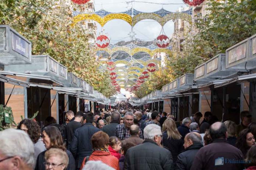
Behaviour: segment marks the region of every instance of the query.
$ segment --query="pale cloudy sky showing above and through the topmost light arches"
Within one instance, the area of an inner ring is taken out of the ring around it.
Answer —
[[[182,0],[135,0],[135,1],[145,1],[148,3],[141,2],[133,2],[127,3],[127,1],[131,0],[94,0],[95,1],[95,10],[98,11],[100,9],[107,10],[109,12],[123,12],[129,10],[132,6],[134,9],[142,12],[154,12],[160,10],[162,7],[171,12],[175,12],[179,7],[185,7],[186,5]],[[174,3],[168,5],[162,4],[150,4],[153,3]],[[157,36],[159,36],[161,32],[161,26],[158,22],[153,20],[143,20],[138,22],[134,26],[135,38],[144,40],[144,41],[152,41]],[[169,21],[164,25],[164,32],[168,37],[173,33],[174,23]],[[106,34],[110,39],[111,43],[115,44],[118,41],[129,41],[131,38],[129,37],[129,32],[131,32],[131,26],[120,19],[114,19],[107,22],[104,27],[101,27],[97,23],[97,32],[98,34],[103,30],[104,34]]]

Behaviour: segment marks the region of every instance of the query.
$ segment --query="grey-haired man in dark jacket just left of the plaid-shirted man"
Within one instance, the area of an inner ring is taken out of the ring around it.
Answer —
[[[121,115],[119,112],[112,112],[110,117],[110,124],[102,127],[102,131],[107,133],[109,137],[115,136],[115,129],[119,125],[120,117]]]

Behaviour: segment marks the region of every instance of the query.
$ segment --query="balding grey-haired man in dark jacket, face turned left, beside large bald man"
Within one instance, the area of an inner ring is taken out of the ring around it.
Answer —
[[[185,150],[178,155],[177,167],[179,170],[190,170],[196,153],[202,148],[202,137],[197,132],[186,134],[184,138]]]

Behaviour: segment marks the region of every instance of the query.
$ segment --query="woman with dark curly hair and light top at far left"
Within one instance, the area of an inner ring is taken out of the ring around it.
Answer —
[[[40,138],[40,126],[35,121],[32,121],[30,119],[23,119],[21,122],[19,122],[17,129],[24,130],[31,138],[34,144],[34,158],[36,160],[38,155],[46,150],[45,145],[43,144],[43,141]]]

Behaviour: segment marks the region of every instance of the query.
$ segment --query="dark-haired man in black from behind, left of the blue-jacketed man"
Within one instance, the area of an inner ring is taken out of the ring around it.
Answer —
[[[78,111],[77,114],[75,115],[74,121],[71,121],[67,124],[67,149],[68,150],[70,150],[73,134],[78,127],[82,126],[82,122],[83,122],[83,112]]]

